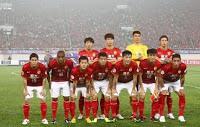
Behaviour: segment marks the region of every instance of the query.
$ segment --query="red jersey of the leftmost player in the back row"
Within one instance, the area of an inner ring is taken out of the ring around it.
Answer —
[[[79,52],[79,56],[87,56],[89,60],[94,60],[97,58],[98,53],[97,50],[88,51],[84,49]]]

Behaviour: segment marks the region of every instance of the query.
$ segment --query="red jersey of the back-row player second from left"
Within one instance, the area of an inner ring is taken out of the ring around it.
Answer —
[[[119,48],[114,47],[113,49],[103,48],[100,52],[105,52],[108,55],[108,59],[117,59],[121,56],[121,50]]]

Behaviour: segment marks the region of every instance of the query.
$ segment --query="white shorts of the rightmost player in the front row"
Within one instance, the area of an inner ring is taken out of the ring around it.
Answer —
[[[179,92],[179,90],[181,89],[181,82],[180,80],[176,81],[176,82],[169,82],[169,83],[165,83],[164,87],[162,88],[162,90],[169,90],[169,92],[173,92],[173,90],[175,90],[176,92]]]

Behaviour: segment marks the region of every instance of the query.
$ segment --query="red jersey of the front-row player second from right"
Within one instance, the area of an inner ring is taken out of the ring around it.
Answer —
[[[146,84],[155,83],[155,74],[160,67],[161,63],[158,60],[154,63],[150,63],[147,59],[142,60],[139,64],[142,82]]]

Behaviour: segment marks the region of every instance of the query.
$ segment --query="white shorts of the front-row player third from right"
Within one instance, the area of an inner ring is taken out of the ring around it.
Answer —
[[[117,90],[117,93],[114,94],[115,96],[119,96],[120,92],[123,90],[123,89],[126,89],[129,93],[129,95],[131,96],[131,93],[132,93],[132,89],[133,89],[133,80],[130,81],[130,82],[127,82],[127,83],[120,83],[118,82],[116,84],[116,90]]]

